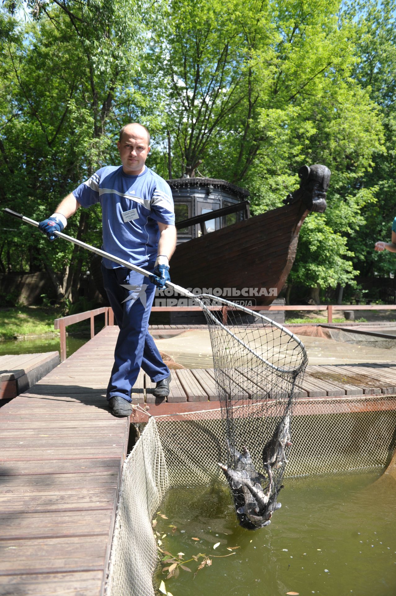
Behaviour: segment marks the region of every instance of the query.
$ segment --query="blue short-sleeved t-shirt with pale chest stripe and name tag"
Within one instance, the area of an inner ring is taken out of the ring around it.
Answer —
[[[124,173],[122,166],[101,167],[73,195],[82,207],[101,204],[102,249],[132,265],[144,266],[157,257],[157,222],[174,225],[172,191],[148,167],[138,176]],[[120,266],[109,259],[103,264]]]

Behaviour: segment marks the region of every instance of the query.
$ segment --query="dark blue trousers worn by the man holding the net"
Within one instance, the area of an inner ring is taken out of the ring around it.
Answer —
[[[147,269],[152,271],[154,263]],[[148,333],[156,286],[148,277],[124,267],[107,269],[102,265],[102,274],[108,300],[120,328],[107,399],[119,395],[130,402],[130,392],[141,368],[154,383],[170,374]],[[123,288],[121,284],[132,285],[133,288]]]

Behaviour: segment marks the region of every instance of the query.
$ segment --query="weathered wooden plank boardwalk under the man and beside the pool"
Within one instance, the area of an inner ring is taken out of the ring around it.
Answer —
[[[105,401],[117,333],[105,327],[0,408],[0,595],[103,594],[129,432]],[[133,402],[153,415],[219,406],[213,369],[171,374],[167,402],[142,372]],[[386,362],[308,366],[298,396],[394,393]]]

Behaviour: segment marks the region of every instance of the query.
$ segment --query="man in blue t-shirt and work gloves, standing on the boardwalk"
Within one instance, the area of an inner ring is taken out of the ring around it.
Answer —
[[[145,166],[150,135],[145,126],[131,123],[117,142],[121,166],[101,167],[58,205],[39,228],[54,240],[67,218],[82,207],[102,207],[102,249],[152,272],[149,278],[114,261],[102,260],[104,287],[120,333],[107,387],[110,409],[116,416],[132,413],[130,392],[142,369],[156,383],[157,398],[169,395],[170,372],[148,333],[155,287],[169,277],[169,259],[176,247],[172,191],[163,178]]]

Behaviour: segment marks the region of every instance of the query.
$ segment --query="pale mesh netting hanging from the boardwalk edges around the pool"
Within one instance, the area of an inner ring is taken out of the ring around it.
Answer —
[[[244,416],[243,406],[234,412]],[[254,433],[263,420],[251,420]],[[272,428],[276,417],[264,425]],[[396,396],[297,399],[285,478],[382,467],[396,443]],[[158,594],[151,522],[167,489],[226,482],[217,466],[224,454],[220,409],[149,418],[124,463],[106,596]],[[260,443],[252,440],[260,461]],[[277,515],[281,515],[280,511]],[[235,523],[238,523],[237,521]],[[265,529],[258,530],[266,532]]]

